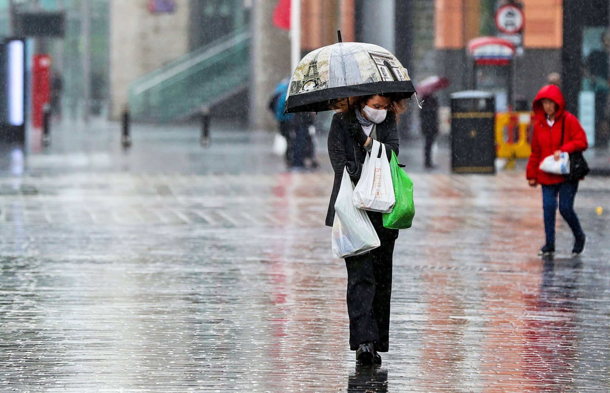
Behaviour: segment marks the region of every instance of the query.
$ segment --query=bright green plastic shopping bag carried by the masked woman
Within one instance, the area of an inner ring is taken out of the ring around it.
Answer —
[[[383,214],[383,226],[391,229],[411,228],[415,216],[413,182],[404,172],[404,169],[398,166],[398,158],[396,158],[396,154],[393,151],[392,160],[390,161],[390,172],[392,172],[396,204],[390,213]]]

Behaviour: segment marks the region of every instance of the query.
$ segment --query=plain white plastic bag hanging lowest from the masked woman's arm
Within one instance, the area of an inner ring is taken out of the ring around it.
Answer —
[[[364,254],[381,245],[367,213],[354,207],[353,192],[354,183],[344,168],[332,223],[332,256],[335,259]]]

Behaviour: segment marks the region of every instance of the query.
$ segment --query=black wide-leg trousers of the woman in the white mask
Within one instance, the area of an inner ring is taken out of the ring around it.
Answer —
[[[398,230],[383,226],[381,213],[367,212],[381,246],[356,257],[345,258],[347,311],[350,316],[350,349],[374,341],[378,352],[387,352],[392,296],[392,255]]]

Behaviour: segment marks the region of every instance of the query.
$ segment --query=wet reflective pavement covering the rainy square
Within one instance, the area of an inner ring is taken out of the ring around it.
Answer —
[[[521,172],[428,174],[405,146],[390,352],[357,367],[323,150],[287,173],[268,135],[117,130],[0,160],[1,392],[610,391],[609,179],[581,183],[583,257],[558,220],[540,260]]]

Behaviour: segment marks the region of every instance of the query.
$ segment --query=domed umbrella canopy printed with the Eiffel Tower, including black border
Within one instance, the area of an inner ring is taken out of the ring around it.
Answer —
[[[285,112],[323,112],[334,99],[377,93],[395,93],[398,99],[415,93],[398,59],[373,44],[332,44],[310,52],[296,66]]]

